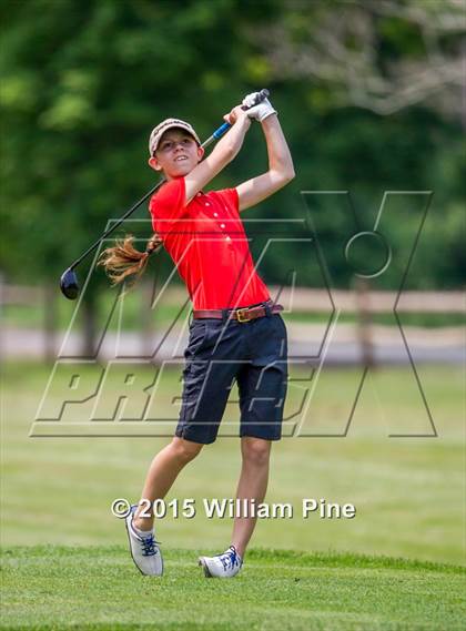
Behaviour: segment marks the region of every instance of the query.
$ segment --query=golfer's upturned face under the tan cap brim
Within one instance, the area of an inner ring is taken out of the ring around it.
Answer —
[[[180,177],[190,173],[202,155],[203,150],[189,133],[169,130],[159,142],[155,160],[168,177]]]

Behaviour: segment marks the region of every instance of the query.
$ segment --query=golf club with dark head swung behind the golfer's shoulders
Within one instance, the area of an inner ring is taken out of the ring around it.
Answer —
[[[263,101],[264,99],[266,99],[269,96],[270,92],[269,90],[261,90],[260,92],[257,92],[257,96],[255,99],[255,102],[253,103],[253,105],[251,105],[251,108],[254,108],[254,105],[257,105],[257,103],[260,103],[261,101]],[[246,108],[245,105],[242,106],[243,110],[250,110],[251,108]],[[223,134],[225,134],[229,129],[232,125],[230,123],[223,123],[217,130],[215,130],[213,132],[213,134],[207,138],[207,140],[205,142],[202,143],[202,147],[206,147],[209,146],[211,143],[213,143],[214,141],[219,140],[220,138],[223,136]],[[133,204],[131,206],[131,208],[129,208],[124,215],[122,217],[120,217],[120,220],[116,221],[116,223],[114,225],[112,225],[109,230],[107,230],[99,238],[95,243],[93,243],[83,254],[81,254],[81,256],[79,258],[77,258],[74,261],[74,263],[72,263],[61,275],[60,278],[60,289],[63,294],[63,296],[65,296],[67,298],[69,298],[70,301],[74,301],[78,295],[79,295],[79,283],[78,283],[78,276],[74,272],[75,267],[82,262],[84,261],[84,258],[91,253],[93,252],[97,247],[99,247],[100,243],[107,238],[113,231],[115,231],[130,215],[132,215],[134,213],[134,211],[136,211],[139,208],[139,206],[141,204],[143,204],[146,200],[149,200],[149,197],[151,195],[153,195],[155,193],[155,191],[158,189],[160,189],[160,186],[162,186],[162,184],[165,182],[165,177],[162,177],[160,180],[160,182],[158,182],[158,184],[155,184],[155,186],[153,186],[143,197],[141,197],[141,200],[139,200],[135,204]]]

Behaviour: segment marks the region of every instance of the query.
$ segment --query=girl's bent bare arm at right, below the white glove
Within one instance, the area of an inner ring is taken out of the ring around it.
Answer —
[[[236,186],[240,211],[259,204],[294,177],[293,160],[276,114],[262,123],[269,153],[269,171]]]

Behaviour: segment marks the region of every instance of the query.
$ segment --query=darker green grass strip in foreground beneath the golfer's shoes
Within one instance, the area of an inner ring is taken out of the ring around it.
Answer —
[[[3,551],[2,628],[266,631],[465,629],[464,569],[351,553],[251,550],[233,580],[207,580],[199,550],[142,577],[122,547]],[[205,550],[204,550],[205,552]]]

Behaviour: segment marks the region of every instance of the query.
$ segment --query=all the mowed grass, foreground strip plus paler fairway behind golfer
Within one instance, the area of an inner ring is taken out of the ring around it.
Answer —
[[[165,576],[143,578],[110,505],[138,497],[169,438],[30,438],[49,372],[10,365],[3,378],[4,628],[465,628],[462,369],[419,368],[437,438],[388,438],[403,424],[424,423],[426,434],[428,425],[418,394],[406,389],[411,370],[381,369],[346,438],[274,445],[266,499],[292,503],[293,518],[262,519],[244,571],[224,582],[204,579],[196,556],[223,550],[232,521],[207,519],[202,500],[234,497],[239,441],[219,439],[182,472],[166,499],[193,498],[196,516],[160,520]],[[357,374],[325,376],[317,420],[344,419]],[[168,400],[179,375],[172,379]],[[303,498],[352,502],[357,513],[303,519]]]

